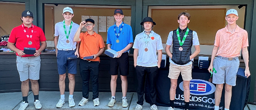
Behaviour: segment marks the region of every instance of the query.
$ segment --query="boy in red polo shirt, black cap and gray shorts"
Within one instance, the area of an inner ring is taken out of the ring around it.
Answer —
[[[32,24],[33,13],[31,11],[23,11],[21,20],[22,25],[12,29],[8,40],[8,48],[16,52],[17,70],[20,74],[21,92],[23,102],[19,110],[25,110],[29,105],[28,92],[29,81],[31,81],[31,89],[34,94],[34,105],[36,109],[41,109],[42,105],[39,101],[39,71],[40,71],[40,53],[46,48],[46,37],[43,30]],[[16,45],[15,45],[16,43]],[[41,46],[40,46],[41,43]],[[36,48],[34,54],[25,54],[24,48]]]

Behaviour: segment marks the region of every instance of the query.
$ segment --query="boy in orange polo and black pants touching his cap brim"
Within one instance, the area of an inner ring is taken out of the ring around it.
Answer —
[[[87,31],[85,33],[80,33],[81,29],[85,27]],[[99,65],[100,58],[99,56],[104,51],[104,41],[101,35],[95,33],[93,31],[94,28],[94,20],[86,19],[85,21],[80,23],[78,31],[74,37],[75,42],[81,42],[79,48],[80,55],[80,74],[83,81],[83,97],[79,106],[85,105],[88,102],[89,97],[89,80],[91,78],[92,86],[93,86],[93,106],[99,106]],[[93,56],[92,59],[84,59],[84,57]]]

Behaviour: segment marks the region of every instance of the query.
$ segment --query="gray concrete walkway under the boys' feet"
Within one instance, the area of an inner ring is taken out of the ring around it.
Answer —
[[[126,97],[129,103],[127,108],[122,108],[122,93],[116,93],[116,104],[114,107],[108,107],[109,98],[111,97],[111,93],[100,92],[100,106],[93,106],[92,100],[92,92],[89,94],[89,102],[84,106],[78,106],[78,103],[82,99],[82,92],[74,92],[74,100],[76,106],[73,108],[69,107],[69,92],[65,92],[65,104],[62,108],[58,110],[134,110],[137,105],[137,93],[127,93]],[[40,91],[39,92],[39,101],[42,104],[43,110],[52,110],[57,109],[56,104],[60,99],[60,92],[56,91]],[[28,96],[29,107],[26,110],[35,110],[34,107],[34,97],[33,93],[30,91]],[[18,110],[20,107],[20,103],[22,103],[22,93],[1,93],[0,94],[0,110]],[[168,110],[168,107],[157,106],[158,110]],[[143,105],[143,110],[150,110],[150,105],[145,102]],[[181,109],[175,109],[181,110]]]

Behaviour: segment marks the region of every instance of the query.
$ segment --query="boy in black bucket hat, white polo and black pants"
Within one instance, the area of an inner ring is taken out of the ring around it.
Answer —
[[[135,37],[133,44],[133,59],[134,67],[137,73],[138,79],[138,102],[135,110],[141,110],[143,105],[143,95],[144,95],[144,84],[145,80],[148,79],[146,83],[149,83],[149,104],[151,110],[157,110],[156,103],[156,92],[155,83],[157,71],[160,67],[162,60],[162,39],[156,34],[152,29],[155,25],[153,19],[150,17],[145,17],[140,23],[143,26],[144,31]],[[158,56],[156,55],[158,52]],[[139,54],[139,55],[138,55]],[[147,76],[147,78],[146,78]]]

